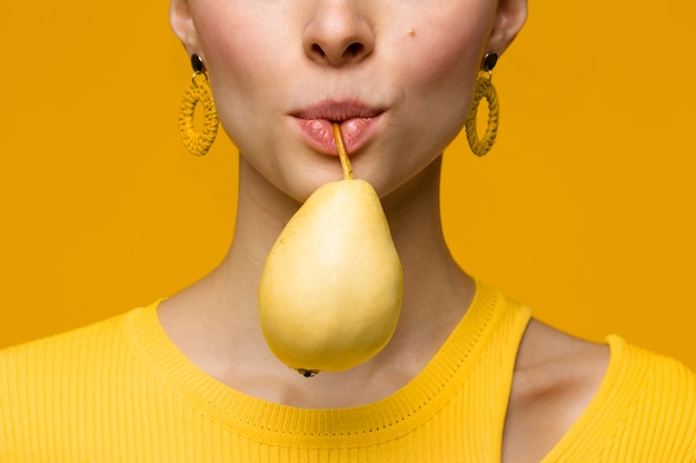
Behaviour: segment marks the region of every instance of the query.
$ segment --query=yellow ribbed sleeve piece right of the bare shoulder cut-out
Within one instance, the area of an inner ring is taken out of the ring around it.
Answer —
[[[696,375],[680,362],[607,338],[612,361],[585,413],[543,463],[696,463]]]

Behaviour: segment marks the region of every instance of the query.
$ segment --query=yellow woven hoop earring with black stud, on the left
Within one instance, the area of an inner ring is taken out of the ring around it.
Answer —
[[[218,111],[212,101],[208,73],[198,54],[191,56],[191,67],[193,68],[191,85],[183,94],[179,110],[179,133],[183,145],[191,154],[206,155],[218,134]],[[200,133],[193,128],[193,111],[198,103],[203,108],[203,130]]]

